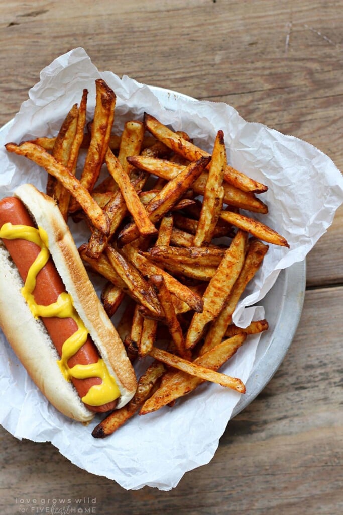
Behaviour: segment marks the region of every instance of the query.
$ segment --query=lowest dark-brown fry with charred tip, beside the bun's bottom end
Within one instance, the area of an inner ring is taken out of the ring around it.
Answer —
[[[95,438],[104,438],[112,435],[120,426],[129,420],[149,398],[159,377],[164,374],[166,367],[163,363],[154,361],[139,377],[137,390],[131,401],[120,409],[116,409],[98,424],[92,435]]]

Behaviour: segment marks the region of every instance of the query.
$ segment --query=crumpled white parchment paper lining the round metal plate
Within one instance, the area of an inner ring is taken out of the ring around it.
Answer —
[[[11,194],[23,182],[45,190],[46,173],[25,158],[8,155],[4,144],[56,135],[70,107],[79,102],[82,89],[89,91],[89,116],[95,106],[95,79],[103,78],[117,95],[115,128],[128,119],[142,118],[144,111],[175,130],[183,129],[194,142],[211,151],[216,132],[225,134],[229,163],[268,185],[261,199],[267,215],[256,215],[280,232],[290,249],[270,246],[254,281],[238,305],[234,321],[244,326],[251,308],[263,299],[281,269],[304,260],[331,225],[343,202],[343,179],[330,158],[292,136],[261,124],[244,121],[222,102],[195,101],[173,96],[172,109],[165,95],[147,85],[111,72],[99,72],[82,48],[76,48],[47,66],[23,102],[14,120],[0,132],[0,197]],[[161,99],[162,98],[162,99]],[[161,100],[161,101],[160,101]],[[255,216],[255,215],[254,215]],[[79,245],[87,232],[71,224]],[[1,292],[0,292],[1,295]],[[254,318],[263,318],[256,308]],[[245,316],[246,314],[246,316]],[[15,323],[15,314],[13,314]],[[254,365],[259,337],[250,337],[223,369],[244,382]],[[190,399],[192,397],[192,399]],[[218,385],[202,385],[173,409],[134,417],[111,437],[91,436],[97,419],[85,428],[58,414],[37,391],[0,333],[0,422],[17,438],[51,441],[79,467],[116,480],[125,489],[143,486],[169,490],[188,470],[211,460],[240,395]]]

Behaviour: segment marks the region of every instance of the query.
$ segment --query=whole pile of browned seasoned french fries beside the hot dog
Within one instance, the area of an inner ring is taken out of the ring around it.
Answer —
[[[79,252],[106,280],[105,310],[113,317],[125,305],[117,331],[128,355],[150,357],[133,399],[95,427],[93,436],[105,437],[135,413],[172,406],[205,381],[245,392],[240,379],[218,370],[268,323],[241,329],[232,314],[268,244],[288,244],[240,213],[267,213],[257,196],[267,187],[228,165],[222,130],[211,155],[191,134],[148,113],[115,135],[115,93],[96,81],[88,123],[87,94],[55,138],[6,148],[47,171],[47,193],[65,220],[86,222],[90,235]]]

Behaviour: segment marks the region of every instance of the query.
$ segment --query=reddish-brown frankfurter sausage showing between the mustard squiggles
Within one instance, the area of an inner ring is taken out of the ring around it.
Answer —
[[[32,219],[23,202],[15,197],[6,197],[0,200],[0,227],[8,222],[13,226],[23,225],[34,227]],[[30,266],[34,260],[37,259],[37,256],[41,251],[40,247],[33,242],[26,241],[25,239],[3,238],[3,243],[11,255],[21,278],[25,282]],[[52,259],[49,258],[48,262],[37,274],[37,280],[33,290],[34,299],[38,304],[48,306],[49,304],[56,302],[58,296],[63,292],[65,292],[65,287],[62,279],[59,276]],[[64,342],[78,330],[76,322],[73,318],[58,317],[41,317],[41,320],[49,333],[53,345],[55,345],[59,355],[61,356]],[[68,366],[71,368],[78,364],[88,365],[91,363],[97,363],[98,359],[99,353],[91,337],[88,336],[85,344],[68,360]],[[89,377],[86,379],[77,379],[76,377],[72,377],[71,381],[81,398],[86,395],[91,386],[101,383],[100,377]],[[103,404],[102,406],[85,405],[91,411],[104,412],[113,410],[116,406],[116,402],[112,401],[111,403]]]

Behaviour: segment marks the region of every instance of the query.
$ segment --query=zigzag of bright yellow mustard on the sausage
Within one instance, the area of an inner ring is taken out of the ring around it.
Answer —
[[[59,295],[56,302],[53,302],[48,306],[39,305],[34,300],[32,293],[35,288],[37,275],[47,263],[50,256],[48,250],[48,235],[46,231],[41,227],[36,229],[35,227],[25,225],[13,226],[12,224],[7,223],[0,229],[0,238],[25,239],[26,241],[35,243],[41,248],[40,253],[29,268],[25,284],[21,289],[21,293],[25,298],[32,315],[35,318],[73,318],[77,324],[78,330],[64,342],[61,358],[57,362],[66,381],[70,381],[71,377],[75,377],[76,379],[100,377],[102,382],[99,385],[94,385],[89,388],[87,394],[81,399],[89,406],[101,406],[102,404],[107,404],[120,397],[120,391],[116,381],[110,374],[102,358],[99,358],[97,363],[89,365],[80,364],[71,368],[68,367],[69,359],[84,345],[88,337],[88,331],[74,307],[71,295],[63,292]]]

